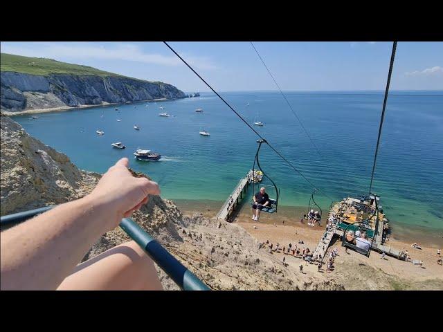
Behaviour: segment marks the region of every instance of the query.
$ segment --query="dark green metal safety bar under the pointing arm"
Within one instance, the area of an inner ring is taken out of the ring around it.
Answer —
[[[50,205],[45,208],[1,216],[0,225],[15,225],[24,222],[56,206],[57,205]],[[168,250],[163,248],[159,242],[154,240],[150,234],[147,234],[147,232],[131,218],[122,219],[119,226],[129,237],[136,241],[138,246],[140,246],[181,289],[184,291],[210,291],[210,288],[208,288],[204,282],[201,282],[199,278],[183,266]]]

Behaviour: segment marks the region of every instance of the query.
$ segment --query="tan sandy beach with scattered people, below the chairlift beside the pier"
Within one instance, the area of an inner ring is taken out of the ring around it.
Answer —
[[[216,202],[206,202],[201,205],[192,205],[191,202],[181,202],[178,204],[185,214],[190,214],[192,208],[199,208],[199,212],[204,216],[213,217],[217,212]],[[284,209],[282,209],[284,210]],[[262,213],[260,221],[251,220],[251,212],[244,206],[239,210],[233,223],[240,225],[248,234],[251,234],[258,242],[269,240],[273,246],[280,243],[280,248],[297,245],[301,250],[309,248],[311,251],[316,247],[318,240],[323,234],[324,225],[309,226],[307,223],[300,223],[300,219],[294,217],[293,209],[280,211],[277,214]],[[302,212],[302,208],[296,209]],[[304,244],[298,244],[299,240]],[[292,255],[284,255],[280,252],[273,252],[272,255],[279,257],[282,261],[285,257],[285,263],[288,268],[294,271],[299,270],[300,264],[303,265],[303,272],[307,279],[309,277],[320,277],[326,280],[334,280],[350,290],[443,290],[443,266],[437,264],[438,243],[419,243],[422,249],[416,249],[411,246],[409,241],[401,241],[391,237],[387,245],[398,250],[408,250],[411,259],[423,261],[423,265],[414,265],[412,262],[400,261],[394,257],[386,256],[381,259],[378,252],[372,251],[370,257],[365,257],[352,250],[345,252],[340,241],[335,241],[329,248],[336,248],[338,256],[334,262],[334,270],[326,272],[326,266],[318,271],[316,265],[306,264],[302,259]],[[443,244],[443,241],[442,241]],[[440,249],[442,249],[440,246]]]

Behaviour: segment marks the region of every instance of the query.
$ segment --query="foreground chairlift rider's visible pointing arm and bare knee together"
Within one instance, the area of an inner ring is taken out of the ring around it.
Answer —
[[[134,241],[78,264],[102,234],[159,195],[122,158],[81,199],[0,233],[1,290],[161,290],[154,263]]]

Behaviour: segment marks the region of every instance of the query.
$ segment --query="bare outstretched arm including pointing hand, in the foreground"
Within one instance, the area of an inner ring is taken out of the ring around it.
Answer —
[[[127,165],[120,159],[84,198],[1,232],[1,289],[56,289],[102,234],[141,208],[148,194],[160,194]]]

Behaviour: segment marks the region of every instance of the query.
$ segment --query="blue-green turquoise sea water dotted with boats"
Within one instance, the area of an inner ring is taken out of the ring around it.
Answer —
[[[368,192],[382,92],[287,93],[323,158],[279,93],[222,95],[248,122],[260,114],[265,125],[255,129],[327,194],[316,196],[323,211],[332,199]],[[159,109],[160,105],[165,109]],[[118,158],[128,157],[130,167],[149,174],[167,199],[224,201],[252,167],[255,134],[216,95],[118,105],[120,113],[115,107],[42,113],[36,120],[29,115],[14,119],[82,169],[105,172]],[[204,113],[195,112],[199,107]],[[159,117],[163,111],[174,117]],[[100,118],[102,112],[104,119]],[[135,131],[134,124],[141,131]],[[105,135],[98,136],[97,129]],[[201,129],[211,136],[200,136]],[[127,149],[112,149],[112,142],[123,142]],[[392,223],[443,229],[442,142],[442,91],[390,94],[373,192],[381,196]],[[152,149],[163,158],[159,162],[135,160],[132,153],[137,148]],[[280,187],[280,205],[307,205],[312,191],[309,183],[269,147],[262,147],[260,160]]]

